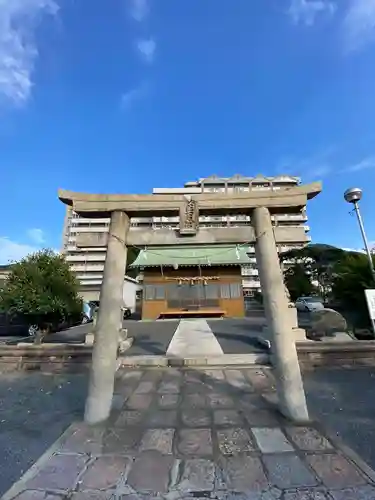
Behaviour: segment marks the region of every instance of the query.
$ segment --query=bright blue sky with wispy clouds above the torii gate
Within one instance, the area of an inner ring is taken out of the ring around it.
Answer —
[[[375,240],[375,0],[0,2],[0,262],[61,245],[63,187],[323,181],[315,242]]]

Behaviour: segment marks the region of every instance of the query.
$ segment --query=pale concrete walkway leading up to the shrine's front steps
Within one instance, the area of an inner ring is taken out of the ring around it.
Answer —
[[[167,349],[167,356],[176,358],[221,354],[223,350],[204,319],[181,320]]]

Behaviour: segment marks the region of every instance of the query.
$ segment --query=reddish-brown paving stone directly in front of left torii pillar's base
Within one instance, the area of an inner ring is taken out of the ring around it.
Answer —
[[[87,453],[98,455],[103,446],[104,429],[80,424],[62,444],[61,453]]]

